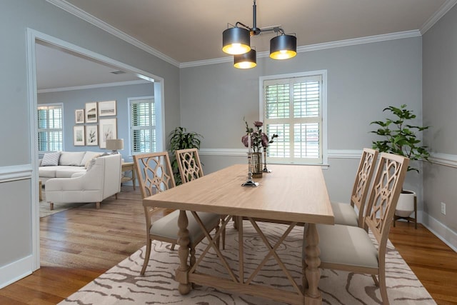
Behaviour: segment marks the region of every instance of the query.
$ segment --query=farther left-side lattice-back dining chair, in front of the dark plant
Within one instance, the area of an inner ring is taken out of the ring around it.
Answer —
[[[178,149],[175,151],[176,161],[178,162],[179,174],[183,184],[204,176],[201,166],[198,149]],[[221,216],[224,221],[225,216]],[[222,249],[226,246],[226,230],[222,228]]]

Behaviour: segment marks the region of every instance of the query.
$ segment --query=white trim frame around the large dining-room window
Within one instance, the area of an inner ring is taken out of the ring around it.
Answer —
[[[309,164],[309,165],[318,165],[323,167],[328,167],[328,146],[327,146],[327,70],[317,70],[317,71],[306,71],[306,72],[297,72],[291,74],[277,74],[277,75],[268,75],[261,76],[258,79],[258,96],[259,96],[259,109],[258,115],[259,121],[263,121],[263,111],[265,110],[263,105],[263,81],[271,79],[291,79],[293,77],[303,77],[303,76],[322,76],[322,164]]]

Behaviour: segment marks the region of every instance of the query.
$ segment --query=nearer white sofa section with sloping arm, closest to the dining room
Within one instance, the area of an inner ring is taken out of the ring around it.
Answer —
[[[121,191],[121,154],[99,156],[91,160],[87,171],[76,172],[71,178],[51,178],[46,181],[46,201],[54,203],[100,202]]]

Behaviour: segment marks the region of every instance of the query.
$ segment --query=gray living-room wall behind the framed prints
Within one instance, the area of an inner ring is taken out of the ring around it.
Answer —
[[[38,94],[38,104],[63,103],[64,104],[64,151],[106,151],[99,146],[74,146],[73,126],[97,125],[75,124],[74,111],[84,109],[86,103],[91,101],[116,100],[116,116],[106,116],[106,119],[117,119],[117,138],[124,139],[124,149],[119,151],[126,161],[131,161],[130,156],[130,126],[129,102],[127,99],[137,96],[154,96],[154,84],[136,84],[128,86],[112,86],[96,89],[81,89],[71,91],[57,91]],[[99,118],[100,119],[100,118]],[[101,119],[104,119],[102,117]]]

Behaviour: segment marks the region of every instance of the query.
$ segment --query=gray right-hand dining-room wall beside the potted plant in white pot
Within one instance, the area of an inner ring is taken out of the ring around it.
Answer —
[[[457,249],[457,6],[423,35],[422,84],[423,121],[432,126],[424,139],[434,156],[424,166],[424,221]]]

